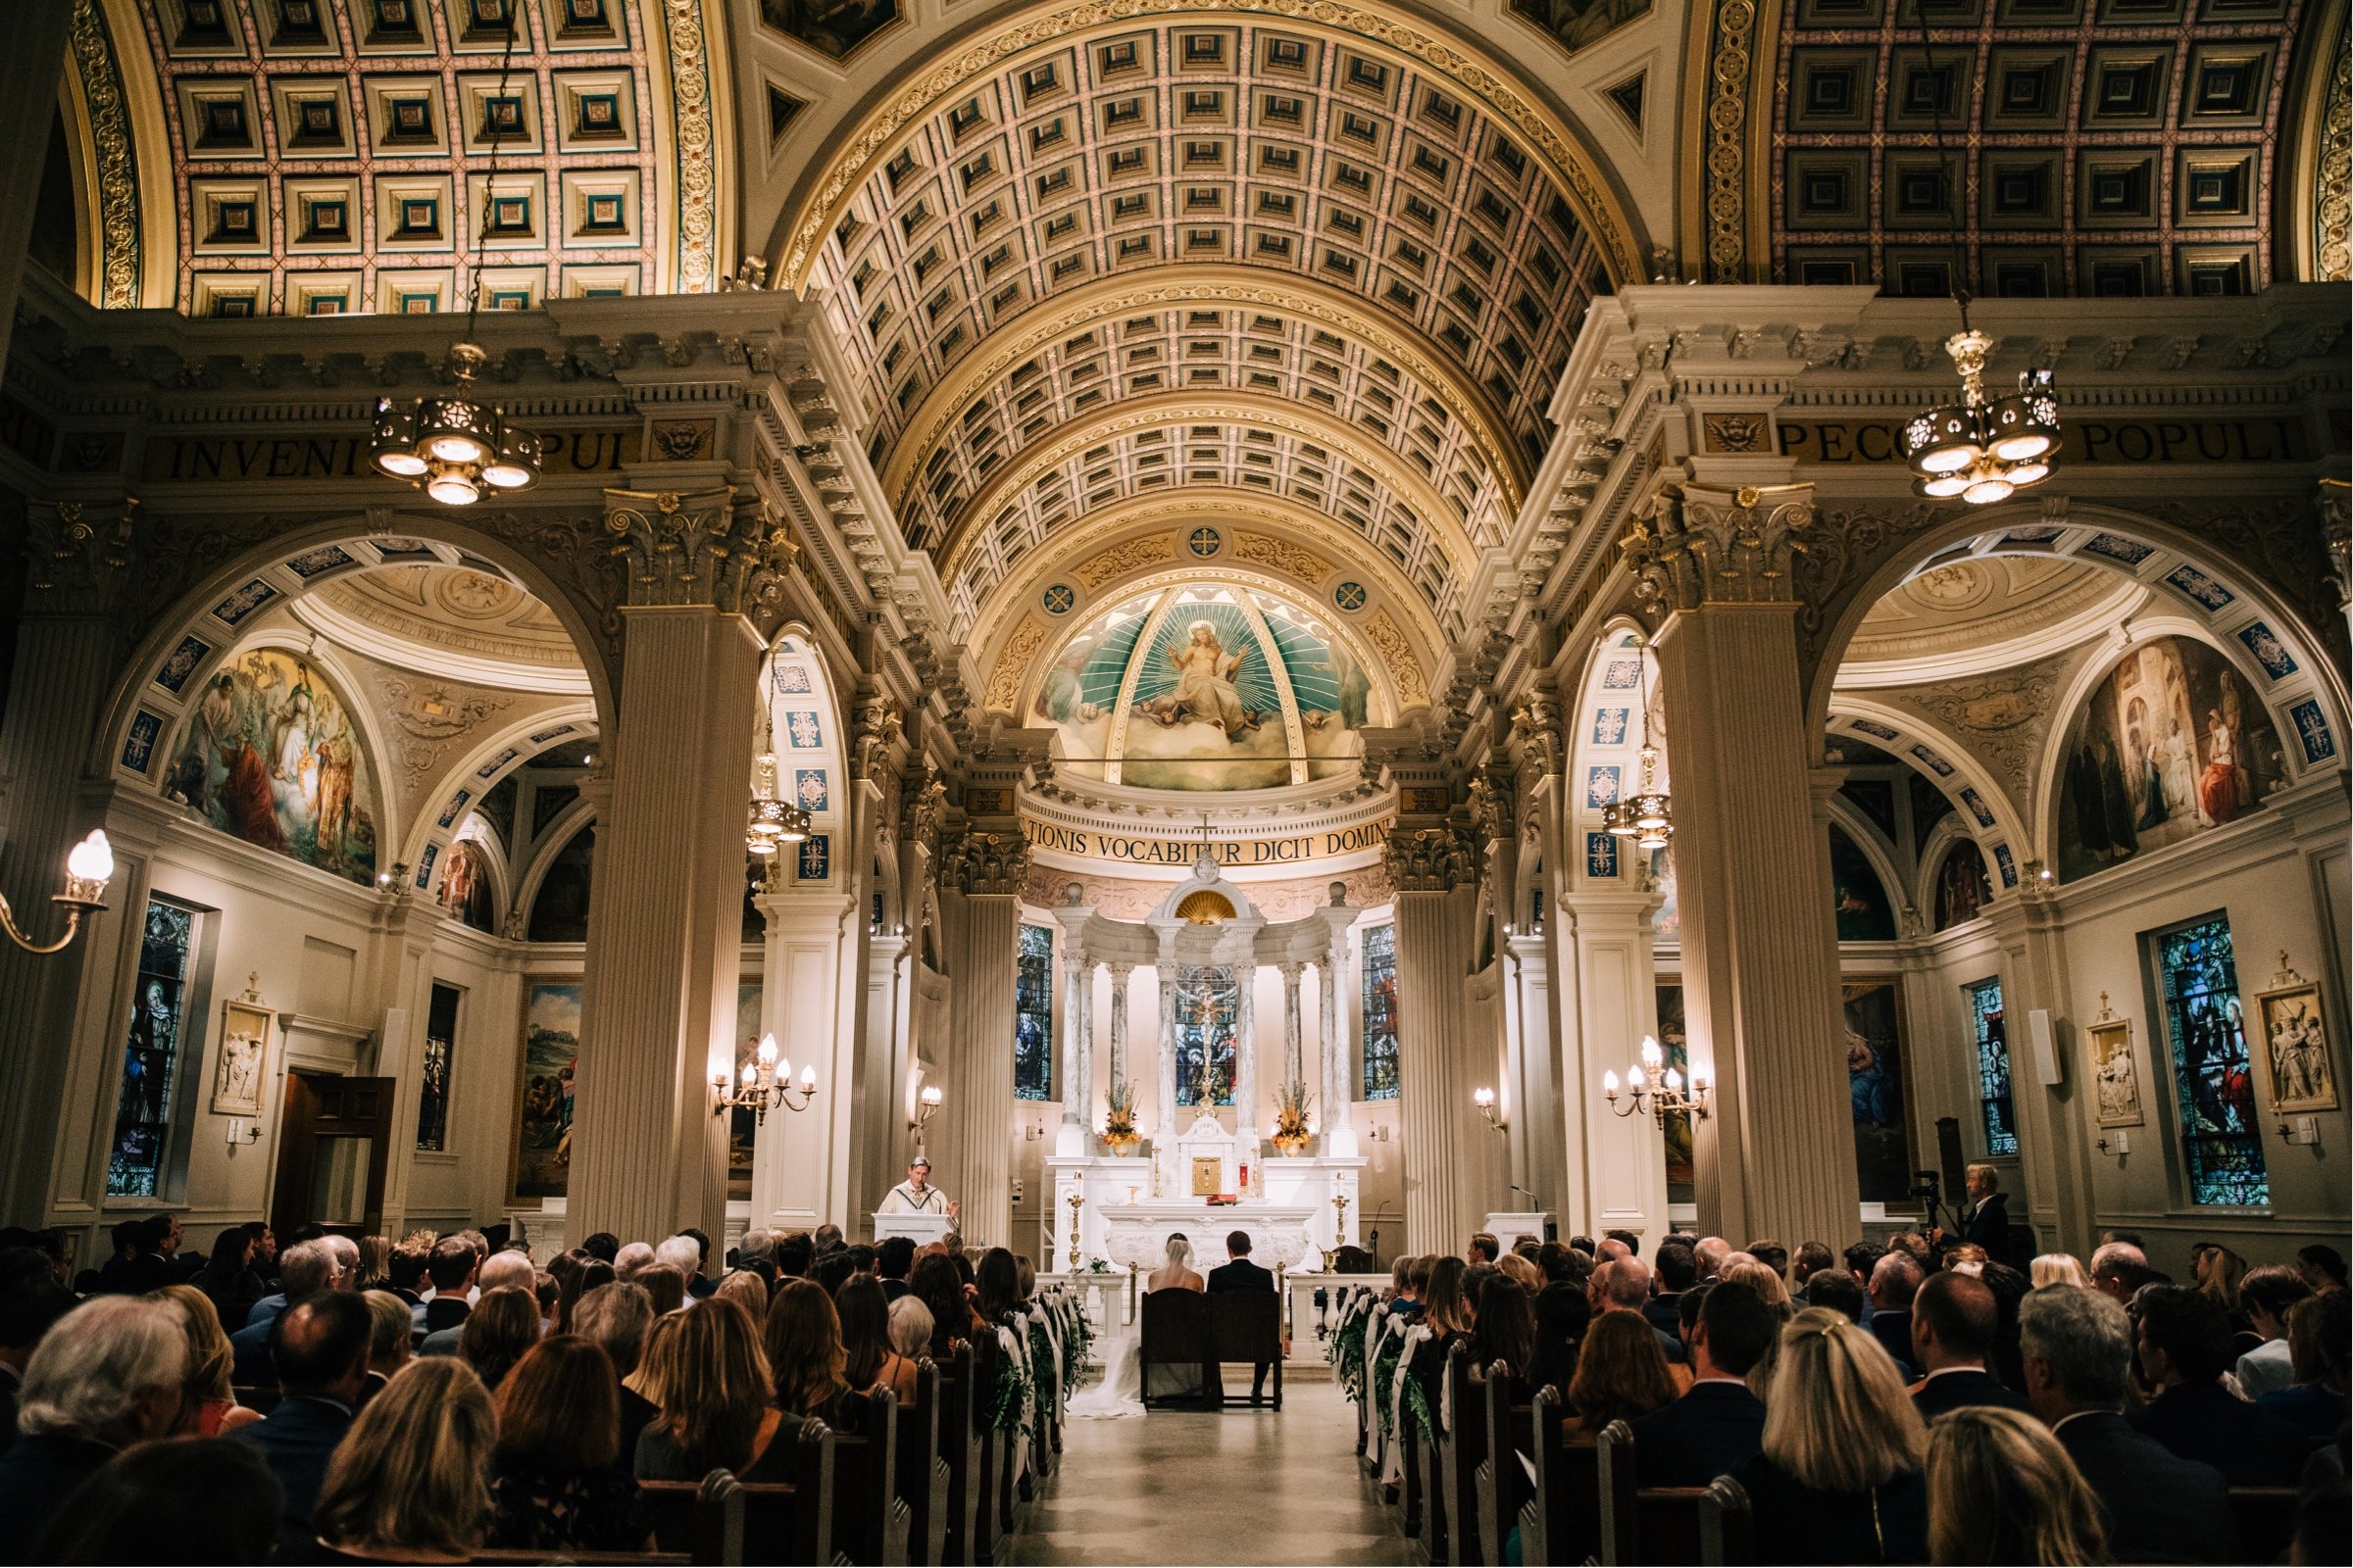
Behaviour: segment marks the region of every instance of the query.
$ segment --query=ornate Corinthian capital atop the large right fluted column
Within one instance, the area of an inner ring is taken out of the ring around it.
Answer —
[[[1635,597],[1659,614],[1795,604],[1793,557],[1805,555],[1812,527],[1812,484],[1668,484],[1628,524],[1619,548],[1635,576]]]

